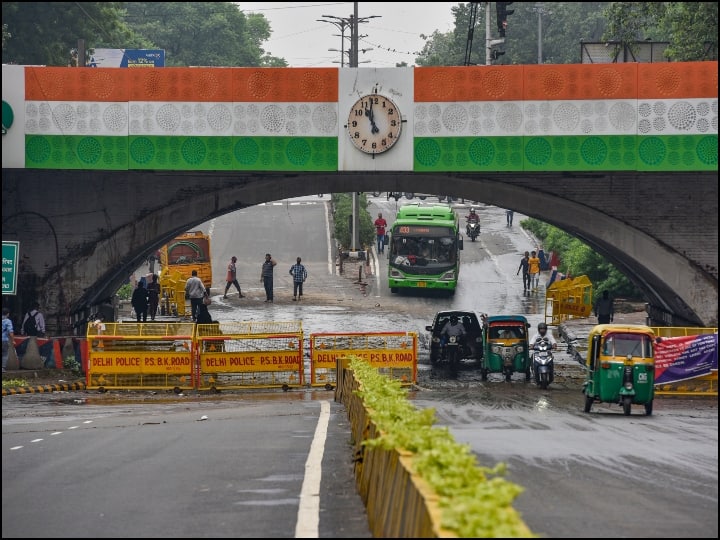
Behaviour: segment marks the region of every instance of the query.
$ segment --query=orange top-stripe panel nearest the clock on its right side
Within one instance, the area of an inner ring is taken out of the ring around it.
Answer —
[[[415,68],[415,101],[518,101],[523,66]]]

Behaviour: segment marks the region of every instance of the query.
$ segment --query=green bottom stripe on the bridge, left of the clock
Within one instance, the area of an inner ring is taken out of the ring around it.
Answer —
[[[27,136],[26,167],[337,171],[337,137]]]

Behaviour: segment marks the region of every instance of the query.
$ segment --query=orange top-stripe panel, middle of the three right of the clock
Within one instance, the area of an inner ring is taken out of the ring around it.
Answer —
[[[637,65],[621,63],[523,66],[523,99],[637,99]]]

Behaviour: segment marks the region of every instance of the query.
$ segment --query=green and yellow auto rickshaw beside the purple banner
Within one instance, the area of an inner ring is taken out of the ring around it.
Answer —
[[[644,325],[598,324],[588,336],[585,412],[593,403],[617,403],[630,414],[643,405],[652,414],[655,397],[655,334]]]

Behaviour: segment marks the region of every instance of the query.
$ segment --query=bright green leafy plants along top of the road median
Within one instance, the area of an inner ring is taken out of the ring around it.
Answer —
[[[417,410],[399,381],[380,375],[366,361],[350,362],[361,382],[357,395],[381,435],[368,447],[413,454],[415,473],[438,495],[444,529],[460,538],[535,538],[511,504],[523,488],[503,478],[505,464],[482,467],[469,445],[447,428],[434,427],[435,410]]]

